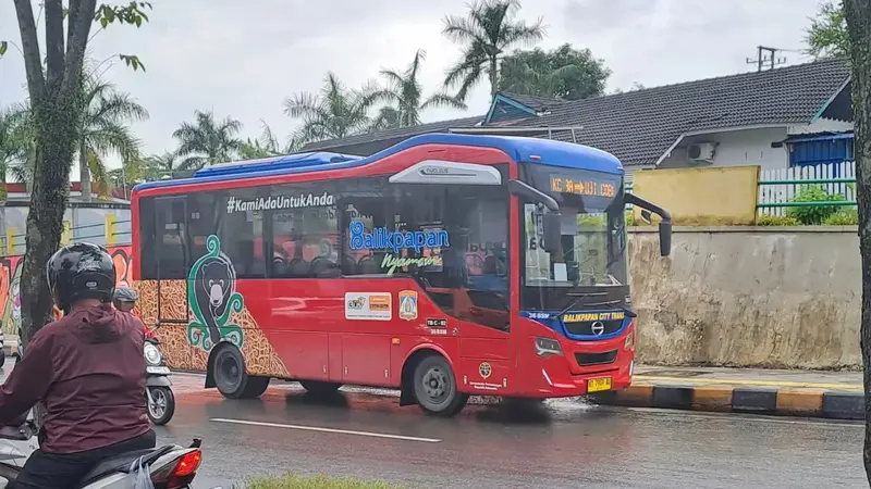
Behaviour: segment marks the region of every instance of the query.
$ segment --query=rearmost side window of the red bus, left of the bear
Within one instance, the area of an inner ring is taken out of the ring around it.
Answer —
[[[187,278],[185,198],[167,198],[155,201],[155,252],[161,280]]]

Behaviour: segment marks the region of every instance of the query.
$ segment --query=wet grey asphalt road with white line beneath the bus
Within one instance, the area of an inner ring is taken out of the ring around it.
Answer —
[[[868,487],[857,424],[568,400],[526,411],[469,406],[438,419],[359,393],[324,401],[271,388],[258,401],[225,401],[192,392],[158,432],[204,438],[197,488],[286,471],[420,488]]]

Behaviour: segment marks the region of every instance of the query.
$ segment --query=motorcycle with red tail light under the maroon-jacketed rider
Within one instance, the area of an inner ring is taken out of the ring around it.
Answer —
[[[0,427],[0,489],[14,488],[24,463],[39,446],[33,419],[22,426]],[[94,467],[78,484],[79,489],[126,489],[134,487],[142,466],[156,488],[189,489],[203,461],[203,440],[194,438],[189,447],[165,444],[148,450],[122,453]]]

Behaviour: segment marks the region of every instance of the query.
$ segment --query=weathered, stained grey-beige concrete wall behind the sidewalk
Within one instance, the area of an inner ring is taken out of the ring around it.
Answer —
[[[638,361],[661,365],[859,368],[855,226],[630,231]]]

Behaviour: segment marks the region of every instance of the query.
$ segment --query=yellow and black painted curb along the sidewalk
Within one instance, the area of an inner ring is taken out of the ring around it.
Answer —
[[[599,404],[631,408],[864,419],[861,392],[642,384],[594,394],[590,400]]]

